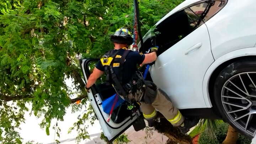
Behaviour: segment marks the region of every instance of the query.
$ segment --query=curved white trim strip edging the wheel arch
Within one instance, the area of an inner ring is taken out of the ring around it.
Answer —
[[[210,76],[212,75],[214,70],[222,63],[237,57],[242,57],[242,56],[256,56],[256,48],[255,47],[244,48],[244,49],[239,49],[239,50],[229,52],[228,54],[225,54],[219,57],[217,60],[215,60],[212,63],[212,65],[208,68],[203,79],[203,97],[207,107],[212,107],[208,89],[209,89]]]

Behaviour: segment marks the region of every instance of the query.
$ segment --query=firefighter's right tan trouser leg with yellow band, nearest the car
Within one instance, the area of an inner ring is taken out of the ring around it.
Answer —
[[[174,126],[181,126],[184,117],[180,111],[168,100],[162,90],[158,90],[156,98],[152,105]]]

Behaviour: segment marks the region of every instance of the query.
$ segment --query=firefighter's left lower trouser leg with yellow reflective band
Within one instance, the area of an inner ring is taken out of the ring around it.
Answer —
[[[149,127],[154,126],[154,119],[156,118],[156,110],[155,108],[150,105],[143,102],[140,102],[140,109],[142,110],[144,118],[148,121]]]

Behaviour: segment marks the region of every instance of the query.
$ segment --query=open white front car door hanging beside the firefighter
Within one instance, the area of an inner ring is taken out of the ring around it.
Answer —
[[[89,78],[96,62],[99,59],[81,59],[80,65],[84,74],[85,82]],[[140,114],[139,105],[135,104],[129,107],[128,104],[124,102],[117,109],[113,110],[111,119],[107,122],[109,114],[105,113],[102,108],[102,101],[106,100],[110,96],[116,94],[116,91],[112,85],[107,85],[104,78],[104,74],[98,79],[96,84],[94,84],[87,93],[91,105],[98,117],[102,131],[108,140],[113,141],[119,135],[121,135],[126,129],[128,129],[132,124],[135,131],[139,131],[145,127],[145,122],[143,116]]]

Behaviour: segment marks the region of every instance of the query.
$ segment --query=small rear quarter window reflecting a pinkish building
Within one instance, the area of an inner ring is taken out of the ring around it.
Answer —
[[[204,22],[208,21],[225,5],[224,0],[206,1],[201,4],[191,6],[190,9]]]

